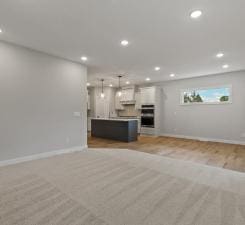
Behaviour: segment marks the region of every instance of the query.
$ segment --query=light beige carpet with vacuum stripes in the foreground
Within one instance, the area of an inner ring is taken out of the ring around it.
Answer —
[[[0,168],[1,225],[244,225],[245,174],[130,150]]]

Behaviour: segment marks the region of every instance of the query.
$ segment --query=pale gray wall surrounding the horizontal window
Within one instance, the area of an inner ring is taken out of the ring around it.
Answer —
[[[232,104],[180,105],[181,89],[227,84],[232,85]],[[161,133],[245,143],[245,71],[164,82],[161,86]]]

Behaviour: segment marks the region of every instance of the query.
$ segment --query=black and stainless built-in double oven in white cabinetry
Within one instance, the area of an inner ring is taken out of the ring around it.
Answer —
[[[141,127],[155,127],[155,106],[142,105],[141,106]]]

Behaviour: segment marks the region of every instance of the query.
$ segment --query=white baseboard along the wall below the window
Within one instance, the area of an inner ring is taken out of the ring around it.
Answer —
[[[219,142],[219,143],[226,143],[226,144],[245,145],[245,141],[224,140],[224,139],[215,139],[215,138],[203,138],[203,137],[185,136],[185,135],[167,134],[167,133],[163,133],[163,134],[161,134],[161,136],[192,139],[192,140],[198,140],[198,141],[210,141],[210,142]]]

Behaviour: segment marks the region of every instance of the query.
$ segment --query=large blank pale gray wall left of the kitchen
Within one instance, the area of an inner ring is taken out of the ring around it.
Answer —
[[[85,146],[86,80],[80,64],[0,42],[0,161]]]

